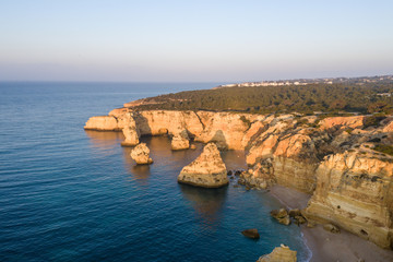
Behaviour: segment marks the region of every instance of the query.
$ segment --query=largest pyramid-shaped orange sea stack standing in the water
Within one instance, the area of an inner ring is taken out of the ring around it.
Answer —
[[[218,188],[228,184],[227,170],[214,143],[209,143],[202,154],[184,166],[178,182],[203,188]]]

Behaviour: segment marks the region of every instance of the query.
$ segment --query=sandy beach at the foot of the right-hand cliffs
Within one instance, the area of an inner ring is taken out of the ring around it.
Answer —
[[[282,186],[274,186],[270,193],[287,209],[303,209],[309,194]],[[393,261],[393,251],[381,249],[342,229],[341,234],[325,231],[321,225],[314,228],[301,226],[305,242],[312,252],[311,262],[388,262]]]

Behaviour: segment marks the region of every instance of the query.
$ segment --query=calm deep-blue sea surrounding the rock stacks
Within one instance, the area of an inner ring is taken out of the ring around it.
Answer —
[[[201,152],[144,139],[135,166],[118,132],[84,131],[123,103],[215,84],[0,83],[0,261],[255,261],[279,243],[309,252],[263,191],[177,183]],[[225,152],[228,168],[242,152]],[[255,227],[261,239],[240,231]]]

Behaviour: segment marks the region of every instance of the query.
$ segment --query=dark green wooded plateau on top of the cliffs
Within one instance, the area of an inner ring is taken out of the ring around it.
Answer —
[[[227,87],[188,91],[146,98],[156,104],[138,109],[217,110],[258,114],[314,111],[343,114],[393,112],[393,83],[309,84],[303,86]]]

